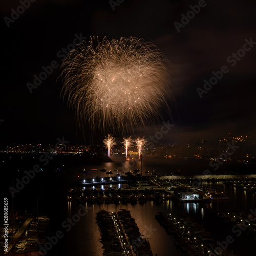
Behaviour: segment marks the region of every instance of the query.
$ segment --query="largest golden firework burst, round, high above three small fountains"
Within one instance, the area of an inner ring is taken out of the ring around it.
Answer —
[[[135,37],[99,42],[91,37],[62,63],[62,95],[79,124],[132,130],[169,108],[168,61],[151,42]]]

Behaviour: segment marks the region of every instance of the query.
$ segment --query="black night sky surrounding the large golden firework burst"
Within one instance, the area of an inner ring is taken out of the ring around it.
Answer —
[[[178,32],[174,23],[181,24],[190,5],[203,2],[124,0],[113,11],[108,0],[36,0],[8,27],[4,17],[11,18],[20,3],[6,1],[1,6],[1,145],[54,143],[63,136],[70,143],[84,143],[83,132],[90,143],[87,124],[80,129],[75,112],[60,97],[59,67],[32,93],[26,85],[42,72],[42,66],[54,60],[61,65],[59,51],[72,44],[75,34],[87,41],[93,35],[109,40],[142,37],[154,42],[172,62],[170,83],[176,102],[169,104],[175,128],[164,135],[163,142],[190,142],[228,133],[253,137],[256,43],[247,46],[246,52],[239,50],[245,39],[256,42],[256,3],[206,0]],[[238,52],[245,55],[235,63],[232,53]],[[212,71],[222,66],[229,71],[200,98],[197,88],[203,89],[203,80],[209,81]],[[159,127],[154,125],[150,133],[154,135]],[[101,142],[105,133],[92,135]]]

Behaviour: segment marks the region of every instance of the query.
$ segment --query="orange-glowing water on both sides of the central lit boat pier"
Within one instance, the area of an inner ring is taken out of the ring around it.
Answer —
[[[75,214],[78,209],[77,203],[72,203],[74,206],[72,207],[72,214]],[[100,243],[100,232],[98,229],[98,225],[96,223],[96,213],[100,209],[105,209],[107,211],[119,211],[120,209],[127,209],[131,211],[132,217],[136,220],[137,226],[139,227],[142,234],[144,234],[148,241],[151,244],[153,253],[157,253],[157,255],[174,255],[174,256],[183,256],[174,245],[174,241],[172,237],[168,236],[163,227],[159,225],[159,223],[155,219],[155,215],[157,212],[173,212],[177,213],[179,206],[177,206],[177,202],[173,202],[172,200],[164,201],[163,204],[155,205],[154,202],[148,201],[144,205],[136,204],[136,205],[114,205],[114,204],[103,204],[103,205],[89,205],[85,204],[88,208],[88,213],[84,218],[81,218],[79,223],[74,226],[70,232],[67,233],[65,237],[67,243],[65,245],[66,255],[90,255],[90,256],[98,256],[102,255],[102,244]],[[91,207],[91,208],[90,208]],[[155,230],[156,229],[156,230]],[[82,244],[79,244],[78,241],[81,238],[84,238]],[[78,240],[77,240],[78,239]],[[70,244],[76,244],[76,248],[71,248]]]

